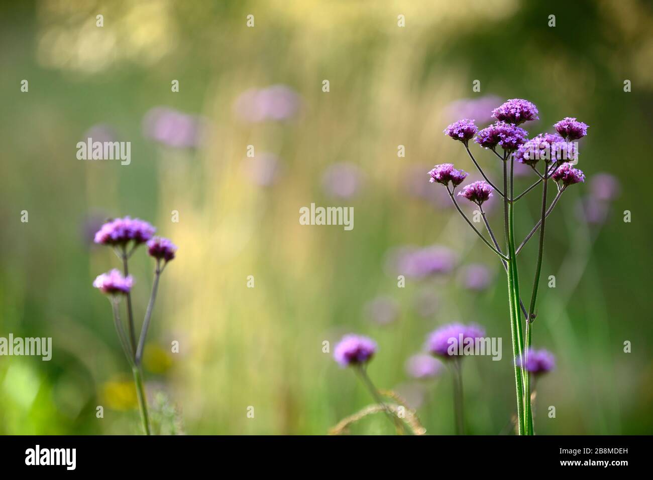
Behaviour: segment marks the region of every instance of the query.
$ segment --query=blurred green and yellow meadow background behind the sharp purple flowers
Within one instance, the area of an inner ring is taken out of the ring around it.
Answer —
[[[428,434],[451,434],[451,375],[416,380],[406,365],[453,321],[503,338],[501,361],[464,360],[466,430],[509,433],[505,275],[426,173],[453,162],[479,179],[442,130],[462,117],[485,127],[507,98],[538,106],[532,135],[566,116],[590,125],[587,181],[547,220],[534,345],[556,369],[537,383],[536,432],[650,433],[650,3],[20,1],[2,3],[0,39],[0,337],[53,338],[49,362],[0,357],[0,433],[138,433],[131,372],[91,286],[118,266],[93,233],[123,215],[179,247],[144,360],[161,433],[326,434],[373,403],[332,359],[354,332],[379,344],[377,387],[406,397]],[[131,142],[131,164],[78,160],[88,136]],[[472,151],[498,179],[500,162]],[[524,188],[534,181],[520,174]],[[517,204],[518,238],[539,191]],[[353,230],[300,225],[313,202],[353,207]],[[524,297],[536,243],[520,255]],[[151,269],[137,252],[137,325]],[[351,432],[392,428],[376,415]]]

